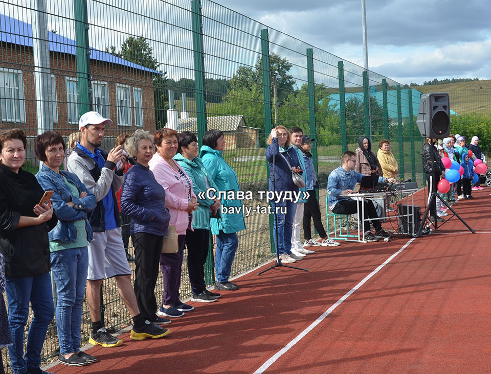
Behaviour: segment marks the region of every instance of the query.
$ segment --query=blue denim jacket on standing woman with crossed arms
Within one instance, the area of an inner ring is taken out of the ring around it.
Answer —
[[[86,192],[87,196],[83,199],[72,195],[70,187],[65,184],[65,177],[77,186],[79,194]],[[74,222],[84,219],[85,230],[87,231],[87,240],[90,242],[93,238],[91,224],[87,220],[87,213],[92,211],[97,205],[96,197],[85,188],[80,179],[68,171],[60,170],[60,174],[43,165],[37,172],[36,178],[44,191],[53,190],[51,198],[53,209],[58,216],[58,224],[49,232],[50,241],[60,240],[64,243],[75,243],[77,241],[77,230]],[[73,207],[67,205],[67,202],[73,201]]]

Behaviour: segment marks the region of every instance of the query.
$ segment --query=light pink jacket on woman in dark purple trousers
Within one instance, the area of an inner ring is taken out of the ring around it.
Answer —
[[[193,182],[191,178],[188,177],[177,162],[172,161],[186,175],[186,178],[191,183],[191,197],[196,197],[192,190]],[[158,153],[153,155],[148,166],[153,172],[155,179],[165,189],[165,206],[167,206],[170,213],[169,225],[175,226],[177,235],[186,235],[186,229],[189,228],[192,230],[188,212],[185,210],[188,207],[189,196],[186,179],[174,170]]]

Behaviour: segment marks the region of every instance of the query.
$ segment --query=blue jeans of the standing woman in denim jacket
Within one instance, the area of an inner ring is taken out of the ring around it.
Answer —
[[[51,271],[58,293],[56,328],[62,355],[80,350],[82,301],[87,282],[87,267],[87,247],[51,252]]]

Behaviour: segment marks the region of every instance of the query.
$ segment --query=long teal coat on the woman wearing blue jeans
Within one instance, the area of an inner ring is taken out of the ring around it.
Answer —
[[[199,157],[203,161],[210,178],[215,182],[217,191],[240,191],[239,179],[222,156],[222,152],[208,146],[201,147]],[[238,207],[239,213],[224,213],[224,209]],[[241,200],[221,200],[218,211],[221,218],[210,220],[211,232],[217,235],[219,230],[233,233],[245,229]]]

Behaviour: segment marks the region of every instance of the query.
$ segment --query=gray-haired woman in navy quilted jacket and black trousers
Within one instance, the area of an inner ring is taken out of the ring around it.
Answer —
[[[145,319],[165,324],[169,319],[155,314],[155,284],[164,235],[169,226],[165,190],[148,167],[153,157],[153,136],[138,129],[125,144],[126,152],[136,160],[125,174],[121,192],[121,212],[131,217],[130,235],[135,247],[135,295]],[[168,331],[168,330],[167,330]]]

